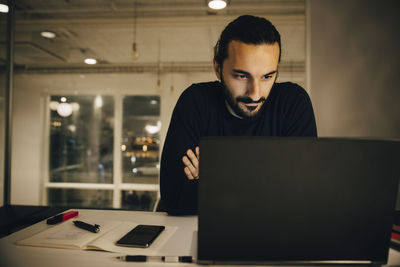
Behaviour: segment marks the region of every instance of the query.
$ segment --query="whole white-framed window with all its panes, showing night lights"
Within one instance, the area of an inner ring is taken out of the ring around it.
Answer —
[[[52,95],[48,107],[49,205],[154,208],[159,96]]]

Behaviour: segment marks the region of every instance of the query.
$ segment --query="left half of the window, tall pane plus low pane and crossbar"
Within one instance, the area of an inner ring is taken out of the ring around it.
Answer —
[[[114,98],[56,95],[49,108],[48,204],[112,207]]]

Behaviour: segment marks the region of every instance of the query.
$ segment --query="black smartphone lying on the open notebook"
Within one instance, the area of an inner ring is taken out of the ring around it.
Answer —
[[[147,248],[164,231],[165,226],[139,224],[117,241],[124,247]]]

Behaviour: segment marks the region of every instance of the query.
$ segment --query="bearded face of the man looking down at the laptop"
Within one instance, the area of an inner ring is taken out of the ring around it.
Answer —
[[[222,68],[214,62],[225,87],[226,100],[237,115],[255,116],[267,99],[278,74],[279,45],[231,41]]]

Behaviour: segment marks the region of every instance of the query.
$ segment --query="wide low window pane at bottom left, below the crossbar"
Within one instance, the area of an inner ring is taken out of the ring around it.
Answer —
[[[52,206],[75,208],[112,208],[112,190],[48,189],[48,201]]]

